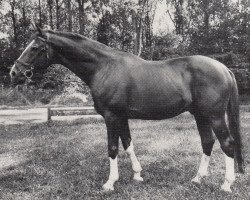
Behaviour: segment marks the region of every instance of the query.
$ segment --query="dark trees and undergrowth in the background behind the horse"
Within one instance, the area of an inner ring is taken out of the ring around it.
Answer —
[[[27,46],[34,20],[43,28],[77,32],[145,59],[211,56],[235,72],[242,94],[250,92],[248,0],[162,0],[170,19],[165,23],[173,24],[173,31],[155,35],[157,2],[0,0],[0,83],[9,85],[9,68]],[[79,81],[56,66],[36,87],[59,91],[72,79]]]

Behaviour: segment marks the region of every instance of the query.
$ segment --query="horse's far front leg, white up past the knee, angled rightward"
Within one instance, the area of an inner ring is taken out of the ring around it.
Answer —
[[[141,171],[142,171],[141,164],[139,163],[134,152],[134,145],[133,145],[133,141],[131,140],[128,122],[126,124],[126,127],[127,127],[126,130],[120,133],[120,138],[121,138],[123,147],[125,151],[129,154],[129,157],[132,162],[132,169],[134,171],[133,179],[136,181],[143,181],[143,178],[141,177]]]

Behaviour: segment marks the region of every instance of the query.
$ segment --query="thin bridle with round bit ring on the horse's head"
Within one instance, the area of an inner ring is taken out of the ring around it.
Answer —
[[[47,48],[47,41],[46,41],[46,39],[44,39],[44,38],[42,38],[42,37],[38,37],[40,40],[42,40],[44,43],[45,43],[45,45],[44,45],[44,47],[42,47],[41,48],[41,50],[38,52],[38,55],[42,52],[42,51],[46,51],[47,52],[47,62],[48,62],[48,59],[49,59],[49,52],[48,52],[48,48]],[[23,62],[23,61],[21,61],[21,60],[19,60],[19,59],[17,59],[16,61],[15,61],[15,64],[21,64],[22,66],[25,66],[25,71],[24,72],[22,72],[22,70],[18,67],[18,65],[16,65],[16,69],[21,73],[21,74],[23,74],[27,79],[31,79],[32,78],[32,76],[33,76],[33,70],[34,70],[34,66],[33,66],[33,62],[35,61],[35,59],[36,58],[33,58],[32,60],[31,60],[31,62],[30,63],[26,63],[26,62]],[[28,68],[28,69],[27,69]]]

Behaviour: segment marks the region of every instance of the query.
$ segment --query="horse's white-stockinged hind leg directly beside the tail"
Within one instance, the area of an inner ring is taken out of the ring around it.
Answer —
[[[225,182],[221,189],[231,192],[230,186],[235,180],[234,174],[234,140],[229,134],[225,120],[225,114],[211,120],[213,131],[220,142],[222,151],[225,153],[226,174]]]

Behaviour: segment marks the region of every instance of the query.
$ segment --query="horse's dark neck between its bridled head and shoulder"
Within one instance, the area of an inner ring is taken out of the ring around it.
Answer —
[[[108,54],[107,51],[98,48],[98,43],[88,39],[70,41],[68,38],[58,36],[51,36],[50,41],[53,41],[56,54],[52,62],[67,67],[88,85],[98,69],[104,67],[104,62],[100,60],[106,60]]]

